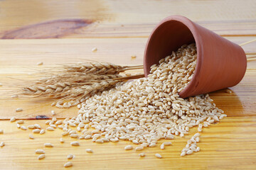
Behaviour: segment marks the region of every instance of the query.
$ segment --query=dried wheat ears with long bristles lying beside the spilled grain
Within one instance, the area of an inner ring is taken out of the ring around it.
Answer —
[[[143,66],[120,66],[107,62],[86,62],[66,64],[63,69],[49,77],[43,77],[35,84],[22,89],[21,94],[55,98],[52,106],[70,108],[77,106],[86,98],[101,91],[110,89],[129,79],[144,77],[144,74],[122,76],[119,73],[131,69],[142,69]]]

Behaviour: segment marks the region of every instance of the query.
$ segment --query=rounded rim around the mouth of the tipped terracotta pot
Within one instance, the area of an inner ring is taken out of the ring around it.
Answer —
[[[146,48],[144,51],[144,64],[146,64],[146,55],[147,55],[147,51],[148,51],[148,45],[151,42],[151,37],[154,35],[154,33],[156,33],[157,30],[159,30],[162,26],[164,26],[164,24],[166,22],[169,22],[169,21],[178,21],[178,22],[182,23],[183,26],[186,26],[188,28],[188,30],[191,31],[193,38],[196,42],[196,50],[197,50],[196,69],[195,69],[195,72],[193,74],[191,81],[189,81],[188,85],[181,92],[178,93],[178,95],[183,98],[183,96],[186,96],[186,93],[188,91],[190,91],[193,88],[193,86],[196,86],[196,82],[197,82],[196,77],[198,77],[198,74],[201,71],[201,63],[203,60],[203,57],[201,57],[201,55],[203,54],[203,45],[200,43],[200,42],[202,42],[202,40],[200,38],[200,35],[198,33],[196,26],[194,26],[194,23],[191,20],[189,20],[188,18],[186,18],[184,16],[168,16],[168,17],[164,18],[159,24],[157,24],[156,27],[154,28],[154,30],[149,35],[149,40],[146,42]],[[147,68],[144,67],[145,77],[147,77],[147,75],[149,74],[150,67],[151,66],[149,66],[149,70],[147,70]]]

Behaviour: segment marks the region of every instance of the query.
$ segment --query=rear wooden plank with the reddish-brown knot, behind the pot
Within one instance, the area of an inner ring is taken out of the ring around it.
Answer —
[[[256,35],[255,5],[254,0],[0,1],[0,37],[147,37],[159,21],[174,14],[220,35]]]

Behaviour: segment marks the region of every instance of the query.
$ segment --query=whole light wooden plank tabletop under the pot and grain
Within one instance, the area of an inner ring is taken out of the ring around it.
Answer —
[[[256,169],[256,61],[247,63],[244,79],[231,87],[210,94],[228,118],[203,130],[201,152],[180,157],[186,141],[196,132],[176,137],[164,150],[159,145],[145,149],[146,157],[124,151],[129,142],[95,144],[81,140],[80,147],[70,147],[70,137],[60,144],[60,130],[34,135],[19,130],[9,118],[24,119],[46,127],[46,120],[36,115],[58,119],[77,115],[78,108],[57,109],[50,100],[11,99],[22,84],[33,79],[38,70],[57,64],[97,60],[114,64],[142,64],[144,47],[156,23],[166,16],[179,14],[238,44],[256,38],[256,1],[0,1],[0,169],[64,169],[68,154],[75,154],[70,169]],[[256,42],[242,46],[256,52]],[[92,52],[97,47],[97,52]],[[131,55],[137,55],[131,60]],[[247,55],[251,57],[253,55]],[[38,67],[37,62],[43,62]],[[143,72],[140,70],[139,72]],[[32,75],[31,75],[32,74]],[[16,108],[22,112],[15,112]],[[164,140],[163,140],[164,141]],[[46,148],[46,159],[38,161],[34,153]],[[161,143],[161,142],[159,142]],[[86,148],[94,150],[87,154]],[[160,153],[163,159],[156,159]]]

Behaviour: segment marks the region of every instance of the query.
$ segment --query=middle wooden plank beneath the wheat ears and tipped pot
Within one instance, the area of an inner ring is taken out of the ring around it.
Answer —
[[[48,40],[0,40],[0,119],[11,116],[18,118],[36,118],[46,115],[51,118],[51,110],[55,110],[58,118],[73,117],[78,109],[58,109],[50,106],[53,100],[35,100],[33,98],[10,98],[11,94],[28,84],[33,79],[30,73],[56,64],[74,63],[87,60],[112,62],[122,65],[143,64],[144,46],[147,38],[86,38],[86,39],[48,39]],[[228,37],[233,42],[242,43],[253,37]],[[92,52],[97,47],[97,52]],[[245,51],[253,52],[255,44],[244,46]],[[136,60],[131,55],[137,55]],[[37,66],[43,62],[43,66]],[[245,78],[237,86],[231,88],[233,94],[217,91],[210,96],[218,107],[229,116],[256,115],[256,61],[248,62]],[[143,72],[138,70],[134,72]],[[23,112],[16,113],[16,108],[23,108]]]

